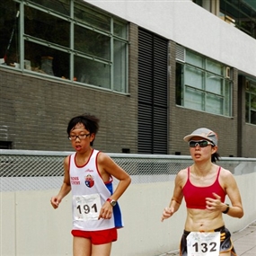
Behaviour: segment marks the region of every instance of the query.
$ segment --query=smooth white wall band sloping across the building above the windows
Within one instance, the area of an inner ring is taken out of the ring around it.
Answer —
[[[256,41],[190,0],[85,2],[256,76]]]

